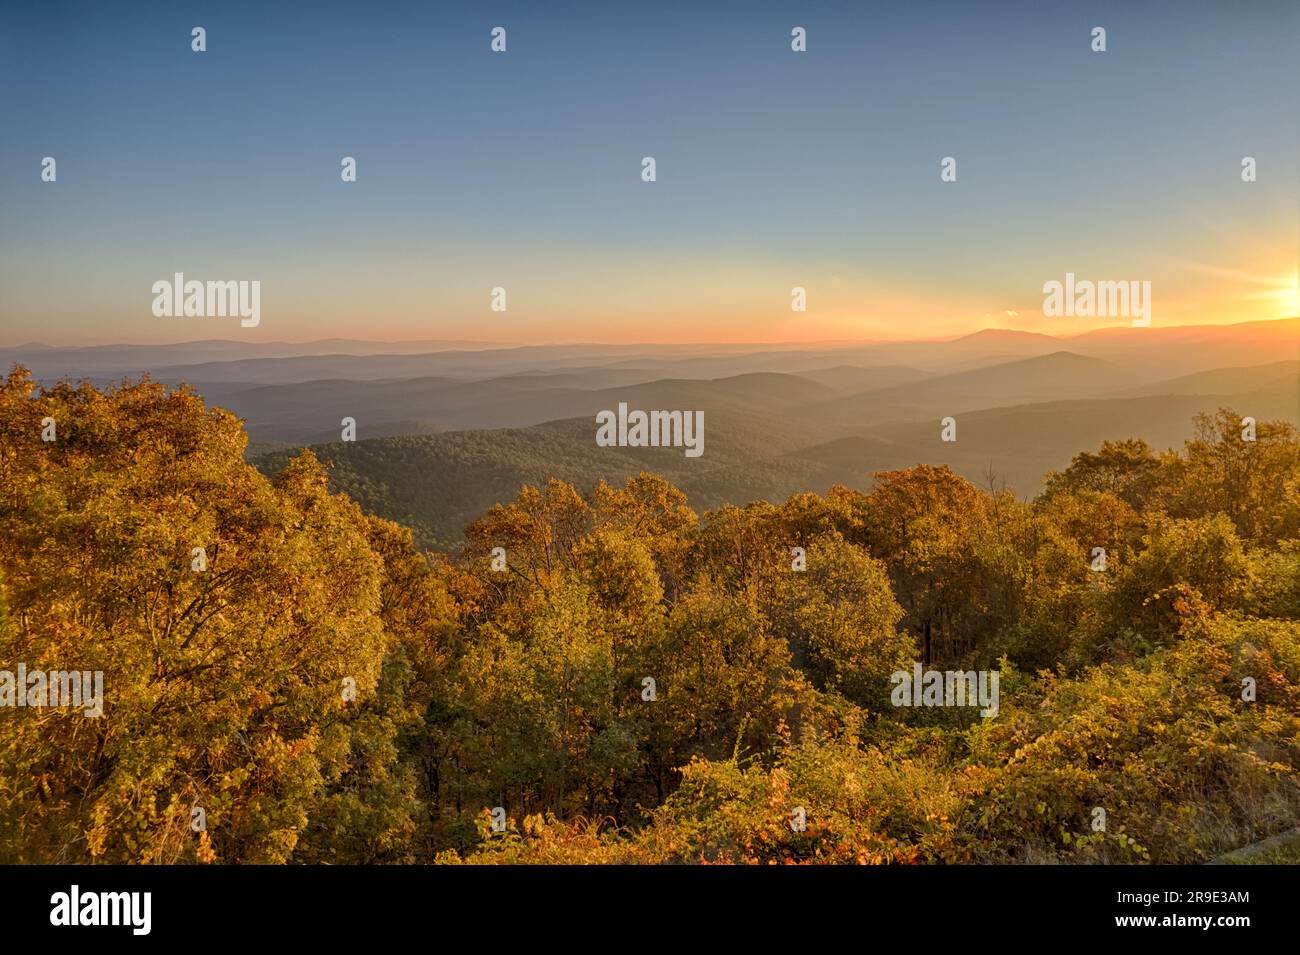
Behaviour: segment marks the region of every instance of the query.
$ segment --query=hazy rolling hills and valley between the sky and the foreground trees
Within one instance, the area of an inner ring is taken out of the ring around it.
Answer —
[[[311,447],[338,490],[443,548],[551,477],[590,487],[654,470],[711,508],[866,489],[876,470],[928,463],[1032,496],[1080,448],[1121,437],[1179,447],[1201,412],[1300,424],[1296,318],[815,344],[30,344],[0,360],[46,383],[187,383],[244,420],[263,470]],[[706,452],[597,447],[595,414],[620,403],[705,412]],[[949,416],[956,442],[940,439]],[[355,443],[341,442],[344,417]]]

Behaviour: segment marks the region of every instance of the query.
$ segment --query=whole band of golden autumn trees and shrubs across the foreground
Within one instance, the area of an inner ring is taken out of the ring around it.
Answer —
[[[0,708],[0,861],[1206,860],[1300,822],[1300,434],[1244,413],[1032,500],[915,459],[698,513],[588,446],[446,556],[190,390],[16,369],[0,669],[105,704]]]

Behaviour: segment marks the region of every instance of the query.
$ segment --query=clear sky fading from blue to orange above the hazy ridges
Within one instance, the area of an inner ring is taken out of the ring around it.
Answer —
[[[1290,317],[1297,48],[1294,0],[5,4],[0,344],[1126,324],[1066,273]],[[177,272],[260,324],[156,317]]]

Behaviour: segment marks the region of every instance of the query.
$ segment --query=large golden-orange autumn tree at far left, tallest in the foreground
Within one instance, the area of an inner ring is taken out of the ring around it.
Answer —
[[[101,672],[105,695],[100,717],[5,715],[8,860],[287,860],[348,770],[343,681],[364,700],[384,660],[360,512],[309,455],[268,482],[185,388],[14,374],[0,421],[0,659]]]

